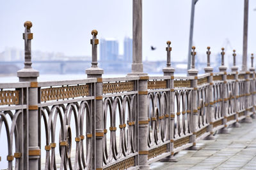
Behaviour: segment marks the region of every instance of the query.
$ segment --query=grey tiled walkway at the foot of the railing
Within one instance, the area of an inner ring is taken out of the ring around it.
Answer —
[[[183,150],[178,162],[155,162],[152,169],[256,169],[256,120],[229,128],[229,134],[216,134],[215,140],[196,143],[200,150]]]

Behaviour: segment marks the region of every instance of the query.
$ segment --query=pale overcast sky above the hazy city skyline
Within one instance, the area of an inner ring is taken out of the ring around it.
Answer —
[[[229,39],[237,53],[243,51],[244,0],[199,0],[196,3],[194,45],[198,53],[211,46],[220,52]],[[256,52],[256,1],[249,4],[248,53]],[[188,55],[190,0],[143,1],[143,59],[165,60],[166,41],[172,41],[172,60]],[[0,52],[6,46],[23,48],[26,20],[33,22],[33,50],[91,55],[90,32],[116,38],[123,53],[125,36],[132,36],[132,0],[7,1],[0,0]],[[150,46],[157,50],[151,51]],[[228,49],[227,53],[231,53]]]

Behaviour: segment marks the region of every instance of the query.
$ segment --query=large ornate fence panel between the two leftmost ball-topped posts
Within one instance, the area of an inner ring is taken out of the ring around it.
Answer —
[[[92,169],[95,82],[38,82],[42,168]]]

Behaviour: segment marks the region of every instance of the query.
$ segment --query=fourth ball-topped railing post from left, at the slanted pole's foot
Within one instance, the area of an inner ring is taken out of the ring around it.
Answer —
[[[193,135],[191,137],[191,142],[193,143],[193,146],[191,147],[191,150],[197,150],[196,148],[196,130],[198,127],[198,110],[197,110],[197,81],[198,81],[198,70],[195,69],[195,46],[192,46],[192,63],[191,63],[191,69],[188,70],[189,76],[194,76],[193,80],[193,95],[192,95],[192,110],[193,110],[193,118],[192,118],[192,132]]]

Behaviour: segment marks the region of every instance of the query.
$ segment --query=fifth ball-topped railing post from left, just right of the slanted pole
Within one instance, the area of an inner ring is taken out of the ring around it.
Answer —
[[[208,83],[209,83],[209,89],[208,89],[208,92],[207,92],[207,111],[209,111],[209,122],[210,122],[210,125],[209,125],[209,131],[210,131],[210,135],[207,136],[207,138],[205,139],[209,139],[209,140],[212,140],[212,139],[215,139],[213,134],[214,132],[212,131],[213,130],[213,120],[214,120],[214,106],[213,106],[213,68],[211,67],[211,62],[210,62],[210,57],[211,57],[211,51],[210,51],[210,46],[207,46],[207,67],[205,67],[204,71],[205,73],[210,73],[210,76],[208,77]]]

